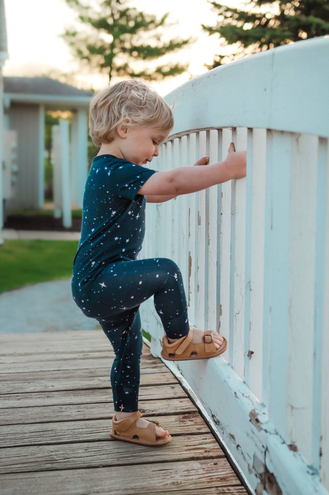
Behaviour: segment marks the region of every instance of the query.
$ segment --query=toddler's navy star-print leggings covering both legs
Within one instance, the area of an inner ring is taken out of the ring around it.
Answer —
[[[99,285],[102,283],[106,287]],[[114,410],[135,412],[143,347],[139,307],[154,295],[154,307],[167,336],[179,339],[187,335],[182,274],[169,258],[118,261],[102,271],[97,284],[97,320],[115,353],[110,374]]]

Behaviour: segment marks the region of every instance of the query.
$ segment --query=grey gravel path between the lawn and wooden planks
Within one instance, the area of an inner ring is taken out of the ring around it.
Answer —
[[[98,321],[85,316],[74,302],[71,278],[0,294],[0,334],[95,328],[101,328]]]

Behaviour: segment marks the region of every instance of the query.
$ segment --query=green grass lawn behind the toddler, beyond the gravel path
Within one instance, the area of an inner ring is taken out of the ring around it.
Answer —
[[[27,284],[71,279],[78,244],[42,239],[4,241],[0,245],[0,293]],[[142,334],[151,340],[143,329]]]

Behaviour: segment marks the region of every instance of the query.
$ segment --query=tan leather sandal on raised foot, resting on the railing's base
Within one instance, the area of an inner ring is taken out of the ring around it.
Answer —
[[[161,356],[168,361],[186,361],[188,359],[206,359],[208,357],[219,356],[227,347],[227,341],[223,337],[221,346],[216,349],[213,342],[211,331],[205,331],[203,342],[191,342],[193,337],[193,328],[189,327],[187,335],[169,344],[166,334],[162,337]],[[222,336],[221,336],[222,337]],[[192,356],[192,353],[196,355]]]

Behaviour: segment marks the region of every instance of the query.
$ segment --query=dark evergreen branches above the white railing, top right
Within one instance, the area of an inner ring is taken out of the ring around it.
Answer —
[[[218,11],[221,19],[215,27],[201,24],[203,30],[209,35],[217,33],[219,37],[225,38],[224,45],[240,43],[240,47],[231,55],[215,55],[213,65],[205,64],[208,69],[222,65],[223,59],[231,61],[247,54],[329,34],[328,0],[247,0],[246,10],[231,8],[216,1],[209,3],[214,7],[212,10]],[[259,8],[255,9],[263,5],[267,7],[265,13],[259,12]],[[279,9],[278,14],[269,11],[271,5]],[[249,23],[251,28],[248,28]]]

